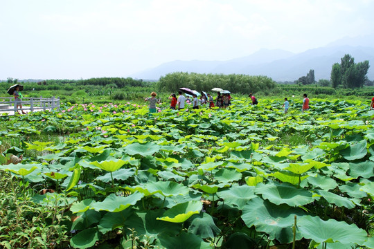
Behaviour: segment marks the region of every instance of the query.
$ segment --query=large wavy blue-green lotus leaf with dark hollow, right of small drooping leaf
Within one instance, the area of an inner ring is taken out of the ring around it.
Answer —
[[[242,220],[247,227],[254,225],[256,231],[269,234],[271,240],[290,243],[293,239],[292,225],[295,215],[299,220],[304,213],[299,208],[290,208],[285,204],[275,205],[257,197],[244,206]],[[296,239],[301,239],[299,232],[296,232]]]

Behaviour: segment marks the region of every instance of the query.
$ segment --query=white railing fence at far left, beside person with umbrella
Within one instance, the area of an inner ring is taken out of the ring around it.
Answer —
[[[17,108],[17,105],[22,108]],[[55,98],[22,98],[21,101],[15,101],[13,97],[0,97],[0,113],[4,111],[38,111],[60,109],[60,97]]]

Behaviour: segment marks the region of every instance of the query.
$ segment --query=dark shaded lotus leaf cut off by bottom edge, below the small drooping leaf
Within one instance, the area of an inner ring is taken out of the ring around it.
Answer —
[[[159,248],[178,248],[178,249],[211,249],[211,243],[203,241],[201,237],[190,232],[181,232],[177,237],[163,235],[159,237]]]

